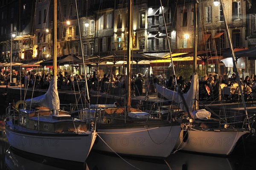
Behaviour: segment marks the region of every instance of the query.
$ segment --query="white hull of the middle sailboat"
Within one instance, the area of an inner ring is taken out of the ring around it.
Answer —
[[[106,144],[99,138],[93,149],[107,152],[114,151],[124,155],[166,158],[175,147],[180,135],[180,126],[157,127],[150,130],[151,128],[98,128],[97,133]]]

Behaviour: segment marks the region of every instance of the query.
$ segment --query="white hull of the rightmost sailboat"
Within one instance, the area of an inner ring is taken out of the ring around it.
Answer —
[[[187,140],[181,137],[176,148],[191,152],[229,155],[236,146],[239,138],[249,131],[202,131],[188,130]],[[184,136],[184,135],[183,135]]]

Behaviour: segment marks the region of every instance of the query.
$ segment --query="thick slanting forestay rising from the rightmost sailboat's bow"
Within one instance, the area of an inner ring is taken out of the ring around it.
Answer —
[[[220,6],[221,6],[221,8],[223,10],[223,19],[224,19],[225,29],[226,29],[226,32],[227,32],[227,40],[228,40],[228,43],[229,43],[229,46],[230,46],[230,52],[232,54],[233,71],[236,73],[236,80],[237,80],[237,83],[239,85],[239,91],[241,93],[241,98],[242,98],[242,102],[243,102],[244,112],[245,112],[245,115],[246,115],[246,118],[247,118],[246,120],[248,120],[247,108],[246,108],[246,105],[245,105],[244,94],[243,94],[243,90],[242,90],[242,87],[241,87],[239,72],[238,72],[237,64],[236,64],[236,57],[235,57],[235,53],[234,53],[234,49],[233,49],[233,44],[232,44],[231,37],[230,37],[229,27],[227,25],[226,13],[225,13],[224,8],[223,8],[222,0],[220,0]],[[248,127],[250,129],[250,124],[248,124]]]

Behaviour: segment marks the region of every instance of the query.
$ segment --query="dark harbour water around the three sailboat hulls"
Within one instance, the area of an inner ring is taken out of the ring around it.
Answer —
[[[24,153],[9,147],[4,134],[1,110],[0,169],[1,170],[253,170],[256,168],[256,137],[249,136],[239,140],[233,153],[228,157],[209,156],[195,153],[176,152],[166,160],[139,159],[99,153],[95,150],[89,154],[86,162],[76,163]],[[63,148],[65,150],[65,148]],[[74,149],[79,149],[74,146]],[[161,151],[159,151],[161,152]]]

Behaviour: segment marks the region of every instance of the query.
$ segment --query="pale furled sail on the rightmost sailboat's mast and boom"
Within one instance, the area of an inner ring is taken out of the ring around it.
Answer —
[[[172,101],[175,101],[176,103],[180,103],[181,99],[177,92],[169,90],[164,86],[159,86],[157,84],[156,84],[156,89],[157,89],[157,92],[159,92],[168,100],[172,100]],[[199,80],[198,80],[198,74],[196,73],[192,77],[189,91],[183,94],[190,111],[192,111],[194,107],[195,98],[198,98],[198,91],[199,91]],[[183,107],[183,106],[180,105],[180,107]],[[183,109],[183,108],[180,108],[180,109]]]

